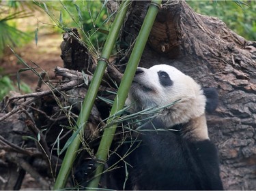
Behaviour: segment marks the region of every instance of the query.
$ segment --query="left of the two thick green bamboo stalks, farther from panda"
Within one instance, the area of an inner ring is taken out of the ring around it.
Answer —
[[[81,126],[85,128],[85,124],[89,118],[89,114],[91,113],[91,109],[94,105],[94,101],[96,99],[100,82],[102,81],[102,77],[107,66],[107,60],[109,60],[109,56],[111,55],[111,51],[113,50],[113,46],[115,44],[121,26],[124,23],[124,18],[126,16],[129,3],[130,1],[122,1],[119,12],[117,12],[117,16],[115,17],[115,20],[112,24],[109,36],[107,37],[106,43],[102,50],[101,58],[98,60],[96,71],[94,73],[94,76],[91,80],[91,84],[89,85],[89,89],[85,96],[85,100],[83,102],[83,107],[80,111],[79,118],[76,122],[76,131],[79,131],[80,129],[83,130]],[[77,135],[74,138],[72,143],[70,143],[66,155],[61,164],[59,175],[57,176],[57,179],[55,181],[54,190],[60,190],[66,186],[66,182],[70,175],[71,167],[74,162],[74,159],[76,158],[77,151],[79,150],[82,137],[83,133],[79,133],[79,135]]]

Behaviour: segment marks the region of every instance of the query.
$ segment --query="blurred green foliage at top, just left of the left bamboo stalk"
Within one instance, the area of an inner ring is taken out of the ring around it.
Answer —
[[[102,1],[36,1],[63,31],[79,29],[91,53],[100,52],[109,30],[109,18]]]

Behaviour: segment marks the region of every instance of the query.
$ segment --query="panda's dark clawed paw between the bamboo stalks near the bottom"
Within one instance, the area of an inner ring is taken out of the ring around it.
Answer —
[[[74,179],[76,185],[86,187],[89,181],[94,177],[97,161],[94,158],[86,158],[85,162],[76,167]]]

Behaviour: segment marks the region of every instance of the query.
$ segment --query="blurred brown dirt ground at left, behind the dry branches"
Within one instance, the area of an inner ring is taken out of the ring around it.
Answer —
[[[18,54],[25,62],[31,66],[35,63],[40,68],[36,69],[38,73],[46,71],[50,79],[54,77],[55,67],[63,67],[59,48],[62,41],[61,33],[44,34],[38,37],[38,44],[35,45],[35,41],[31,41],[29,44],[22,48],[14,48],[16,54]],[[33,61],[33,63],[31,62]],[[10,51],[5,54],[3,60],[0,61],[0,67],[3,68],[2,74],[10,75],[11,79],[15,84],[17,72],[20,69],[27,68],[25,65],[18,61],[18,58]],[[38,76],[32,71],[23,71],[20,73],[20,81],[31,87],[33,91],[38,82]]]

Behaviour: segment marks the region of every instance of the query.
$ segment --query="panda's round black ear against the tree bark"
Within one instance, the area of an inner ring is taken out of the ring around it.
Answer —
[[[218,106],[218,92],[216,88],[203,88],[203,94],[206,97],[205,110],[212,114]]]

